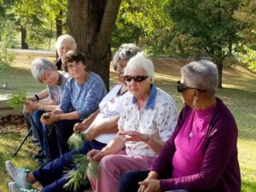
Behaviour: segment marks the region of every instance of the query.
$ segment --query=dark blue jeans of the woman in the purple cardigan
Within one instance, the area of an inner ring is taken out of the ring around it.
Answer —
[[[137,192],[139,189],[139,182],[148,177],[149,171],[132,170],[125,172],[119,179],[119,192]],[[189,192],[189,190],[177,189],[166,192]],[[191,191],[192,192],[192,191]]]

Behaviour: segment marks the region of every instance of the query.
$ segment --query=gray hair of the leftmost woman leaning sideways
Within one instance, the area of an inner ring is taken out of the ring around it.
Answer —
[[[32,61],[31,73],[34,79],[43,82],[42,76],[45,70],[57,71],[57,67],[51,61],[40,57]]]

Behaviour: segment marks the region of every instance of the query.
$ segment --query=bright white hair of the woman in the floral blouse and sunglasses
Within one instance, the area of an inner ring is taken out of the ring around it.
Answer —
[[[124,75],[127,75],[127,73],[132,70],[143,70],[149,79],[151,78],[152,81],[154,80],[154,64],[143,55],[143,52],[139,52],[137,55],[131,57],[125,67]]]

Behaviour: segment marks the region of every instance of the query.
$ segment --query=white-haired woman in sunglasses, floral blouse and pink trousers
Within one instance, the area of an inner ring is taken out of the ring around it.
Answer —
[[[154,66],[143,53],[128,61],[124,80],[130,94],[120,113],[119,133],[102,150],[88,153],[91,159],[101,160],[97,178],[89,174],[97,192],[116,192],[124,172],[148,169],[177,124],[175,102],[154,86]]]

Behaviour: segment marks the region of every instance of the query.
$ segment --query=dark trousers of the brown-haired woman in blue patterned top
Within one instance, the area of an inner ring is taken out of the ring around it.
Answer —
[[[67,139],[73,134],[73,125],[80,122],[80,120],[60,120],[55,123],[55,132],[60,155],[70,151]]]

